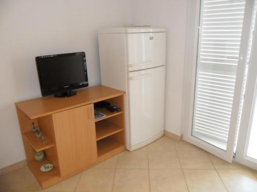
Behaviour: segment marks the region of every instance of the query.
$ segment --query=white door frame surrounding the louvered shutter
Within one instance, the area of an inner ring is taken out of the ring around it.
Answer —
[[[230,121],[230,133],[228,136],[227,150],[221,150],[220,148],[211,145],[203,140],[200,140],[191,135],[192,123],[193,123],[193,111],[194,111],[194,95],[195,95],[195,81],[196,81],[196,68],[198,57],[198,26],[200,20],[201,1],[189,1],[188,2],[188,17],[187,17],[187,35],[186,35],[186,53],[185,53],[185,68],[184,68],[184,82],[183,82],[183,106],[181,115],[181,127],[183,140],[192,143],[209,153],[218,156],[228,162],[232,162],[233,148],[236,134],[236,123],[239,112],[241,92],[243,86],[243,77],[246,66],[246,53],[249,41],[249,30],[252,15],[252,5],[254,0],[246,1],[244,23],[242,38],[240,59],[238,60],[237,72],[236,72],[236,84],[234,91],[234,100],[232,106],[232,114]],[[194,29],[194,30],[192,30]]]

